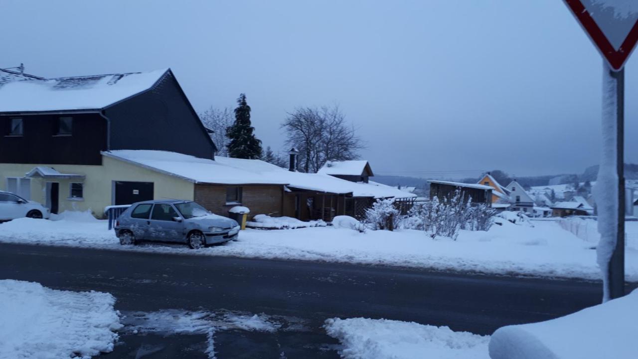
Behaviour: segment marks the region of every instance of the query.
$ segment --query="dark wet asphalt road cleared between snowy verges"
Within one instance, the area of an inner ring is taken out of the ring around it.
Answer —
[[[600,302],[600,283],[442,273],[379,266],[145,254],[0,244],[0,278],[104,291],[123,314],[231,310],[295,318],[303,330],[216,333],[217,358],[338,358],[322,329],[331,317],[447,325],[491,334]],[[105,358],[207,358],[206,337],[133,334]],[[282,355],[282,353],[284,353]]]

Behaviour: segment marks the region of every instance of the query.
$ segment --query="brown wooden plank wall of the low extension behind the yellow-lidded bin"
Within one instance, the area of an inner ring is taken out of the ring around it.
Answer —
[[[226,204],[226,188],[241,187],[241,204]],[[228,210],[234,206],[246,206],[250,209],[248,219],[265,214],[280,217],[283,213],[282,185],[209,185],[195,184],[195,202],[212,213],[228,217]]]

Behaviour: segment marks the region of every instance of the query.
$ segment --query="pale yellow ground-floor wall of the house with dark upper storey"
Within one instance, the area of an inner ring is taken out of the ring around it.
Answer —
[[[194,184],[185,179],[162,174],[110,157],[102,157],[102,165],[47,165],[47,164],[0,164],[0,190],[6,190],[7,177],[19,177],[33,167],[54,167],[58,172],[84,174],[84,181],[77,179],[31,179],[31,200],[46,205],[46,183],[59,182],[59,212],[91,210],[94,216],[103,217],[106,206],[112,204],[113,181],[153,182],[154,199],[163,197],[193,200]],[[70,183],[84,183],[84,199],[70,197]]]

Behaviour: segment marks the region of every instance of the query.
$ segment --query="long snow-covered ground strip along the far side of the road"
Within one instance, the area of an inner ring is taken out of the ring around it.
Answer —
[[[420,231],[358,231],[344,227],[315,227],[262,231],[249,229],[225,245],[190,250],[185,245],[145,243],[121,246],[107,223],[85,213],[58,220],[20,218],[0,224],[0,241],[43,245],[135,250],[142,252],[300,259],[383,264],[446,271],[477,271],[600,279],[593,244],[565,231],[555,221],[528,225],[504,222],[489,231],[461,231],[456,241],[433,240]],[[628,226],[628,231],[638,226]],[[627,247],[626,274],[638,281],[638,248]]]

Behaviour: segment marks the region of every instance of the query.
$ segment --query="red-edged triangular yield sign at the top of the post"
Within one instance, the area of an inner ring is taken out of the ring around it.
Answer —
[[[623,68],[638,42],[638,0],[564,0],[612,69]]]

